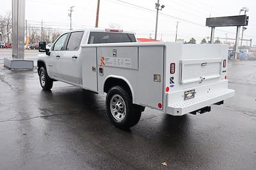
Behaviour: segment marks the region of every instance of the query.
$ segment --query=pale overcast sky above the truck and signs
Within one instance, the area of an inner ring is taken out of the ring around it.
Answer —
[[[155,10],[156,0],[122,0],[127,3],[143,6]],[[109,27],[110,23],[120,25],[122,29],[135,31],[138,38],[154,38],[156,13],[143,10],[118,0],[100,0],[99,27]],[[0,0],[0,14],[12,9],[11,0]],[[248,29],[244,31],[244,38],[253,39],[256,44],[256,1],[255,0],[160,0],[164,4],[159,15],[158,39],[164,41],[175,40],[175,29],[179,21],[178,38],[189,40],[196,38],[199,43],[202,38],[211,35],[211,29],[205,27],[205,18],[239,15],[239,10],[246,6],[250,16]],[[26,0],[26,19],[29,26],[40,27],[41,20],[44,27],[56,27],[65,31],[69,27],[68,8],[74,7],[72,23],[74,28],[95,26],[97,0]],[[177,17],[180,19],[175,19]],[[188,21],[190,22],[188,22]],[[191,23],[193,22],[193,23]],[[236,27],[219,27],[216,37],[236,38]],[[223,40],[221,40],[223,41]],[[244,42],[246,45],[246,42]]]

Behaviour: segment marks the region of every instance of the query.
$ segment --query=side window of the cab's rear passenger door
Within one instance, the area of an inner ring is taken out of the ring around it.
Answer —
[[[83,31],[71,33],[68,40],[67,50],[79,50],[83,34]]]

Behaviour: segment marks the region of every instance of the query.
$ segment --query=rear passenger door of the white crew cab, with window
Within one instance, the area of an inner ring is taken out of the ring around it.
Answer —
[[[62,79],[74,84],[82,84],[79,70],[81,70],[80,43],[83,34],[84,31],[76,31],[68,35],[66,49],[60,59]]]

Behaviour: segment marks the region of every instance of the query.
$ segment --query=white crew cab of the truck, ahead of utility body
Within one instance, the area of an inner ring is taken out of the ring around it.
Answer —
[[[136,42],[134,33],[120,29],[79,29],[61,35],[47,54],[39,54],[38,65],[56,81],[82,85],[81,44]],[[68,69],[67,69],[68,68]],[[39,70],[38,70],[39,72]]]

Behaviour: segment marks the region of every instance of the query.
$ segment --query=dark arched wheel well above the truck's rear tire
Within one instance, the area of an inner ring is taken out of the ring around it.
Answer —
[[[104,84],[104,92],[108,93],[109,89],[113,86],[121,86],[122,88],[126,89],[129,95],[132,97],[132,91],[127,82],[125,82],[123,79],[118,79],[114,77],[110,77],[106,80]]]

